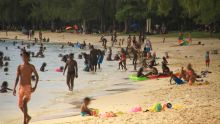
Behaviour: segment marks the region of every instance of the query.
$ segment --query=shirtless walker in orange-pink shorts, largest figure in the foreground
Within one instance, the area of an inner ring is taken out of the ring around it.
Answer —
[[[34,65],[29,63],[30,55],[27,52],[22,53],[23,64],[19,65],[17,68],[17,76],[14,86],[13,95],[16,95],[16,87],[19,82],[19,91],[18,91],[18,103],[21,111],[24,114],[24,122],[23,124],[28,124],[31,120],[30,115],[28,114],[27,103],[31,98],[31,93],[33,93],[38,84],[38,73],[34,67]],[[35,86],[31,85],[31,76],[32,73],[36,76]]]

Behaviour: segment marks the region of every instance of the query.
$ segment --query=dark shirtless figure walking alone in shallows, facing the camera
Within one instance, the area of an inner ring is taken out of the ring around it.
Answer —
[[[66,76],[66,83],[69,88],[69,91],[73,91],[74,86],[74,78],[78,77],[78,67],[77,62],[73,60],[73,54],[69,55],[69,60],[67,60],[63,75],[65,75],[66,68],[68,68],[67,76]]]

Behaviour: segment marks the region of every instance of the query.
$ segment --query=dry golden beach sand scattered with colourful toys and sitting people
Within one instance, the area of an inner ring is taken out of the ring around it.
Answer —
[[[37,34],[37,33],[36,33]],[[76,42],[86,39],[86,42],[97,43],[99,37],[95,35],[73,35],[70,33],[49,33],[44,32],[43,37],[49,37],[51,41]],[[9,32],[6,37],[0,32],[0,38],[27,39],[19,32]],[[119,38],[122,36],[119,36]],[[109,39],[110,37],[108,37]],[[190,62],[195,71],[199,74],[206,70],[204,54],[207,50],[219,50],[219,39],[193,39],[193,44],[201,41],[205,45],[175,46],[176,38],[167,38],[162,43],[162,38],[150,36],[153,50],[162,57],[168,52],[169,67],[172,70],[186,67]],[[31,124],[219,124],[220,123],[220,54],[210,54],[211,65],[209,71],[212,73],[204,78],[209,84],[203,85],[170,85],[169,79],[155,79],[142,82],[134,82],[141,85],[132,91],[98,97],[92,101],[91,108],[98,108],[101,112],[122,111],[125,114],[113,118],[98,117],[65,117],[52,120],[33,121]],[[128,63],[131,63],[128,61]],[[132,70],[133,67],[128,67]],[[158,67],[160,68],[160,67]],[[120,83],[120,82],[119,82]],[[141,106],[143,110],[148,109],[155,103],[170,102],[173,105],[181,106],[178,109],[166,109],[161,112],[128,112],[134,106]]]

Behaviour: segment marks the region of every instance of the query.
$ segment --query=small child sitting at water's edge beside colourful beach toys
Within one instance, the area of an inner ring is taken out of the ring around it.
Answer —
[[[92,110],[88,108],[91,99],[89,97],[84,98],[83,103],[81,105],[81,115],[82,116],[92,116]]]

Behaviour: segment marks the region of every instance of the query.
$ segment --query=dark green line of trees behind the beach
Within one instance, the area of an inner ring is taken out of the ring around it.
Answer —
[[[0,29],[130,32],[165,24],[169,30],[219,27],[220,0],[0,0]]]

